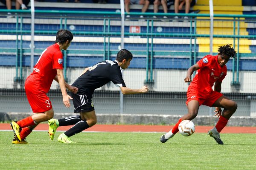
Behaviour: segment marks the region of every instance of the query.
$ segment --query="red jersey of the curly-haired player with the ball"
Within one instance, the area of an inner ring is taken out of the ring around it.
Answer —
[[[199,69],[189,86],[190,88],[197,89],[199,96],[207,97],[211,93],[214,83],[217,81],[222,82],[227,75],[227,66],[221,67],[218,64],[218,55],[207,55],[197,63]]]

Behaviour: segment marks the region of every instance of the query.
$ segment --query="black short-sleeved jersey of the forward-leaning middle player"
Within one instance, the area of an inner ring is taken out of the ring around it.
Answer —
[[[117,61],[106,60],[90,67],[72,84],[79,89],[78,94],[92,97],[96,88],[100,88],[112,81],[114,85],[126,87],[122,77],[122,68]]]

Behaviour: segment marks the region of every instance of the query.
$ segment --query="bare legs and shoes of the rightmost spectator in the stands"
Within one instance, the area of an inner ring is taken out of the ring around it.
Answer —
[[[175,13],[178,14],[179,10],[182,9],[183,5],[185,4],[185,13],[189,13],[189,9],[192,6],[195,6],[197,0],[175,0],[174,3],[174,10]],[[178,19],[178,16],[175,16],[175,19]],[[189,19],[187,16],[184,17],[185,20]]]

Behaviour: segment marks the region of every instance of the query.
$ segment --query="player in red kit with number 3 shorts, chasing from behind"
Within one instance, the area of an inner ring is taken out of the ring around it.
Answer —
[[[55,44],[47,47],[36,63],[33,72],[26,78],[25,91],[32,108],[32,116],[17,122],[11,122],[11,128],[15,134],[13,144],[26,144],[26,136],[40,123],[52,119],[54,111],[52,103],[47,93],[52,85],[53,79],[57,81],[61,88],[63,103],[70,107],[66,88],[76,93],[78,88],[68,85],[63,76],[62,64],[63,55],[61,50],[67,50],[70,42],[73,40],[73,34],[68,30],[59,30],[56,34]]]

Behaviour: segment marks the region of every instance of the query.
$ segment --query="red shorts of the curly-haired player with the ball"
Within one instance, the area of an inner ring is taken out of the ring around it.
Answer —
[[[216,102],[216,100],[219,99],[221,96],[223,96],[223,94],[217,91],[211,91],[209,95],[201,96],[201,95],[198,95],[198,91],[195,88],[189,87],[187,91],[186,105],[188,105],[188,103],[191,100],[197,100],[199,102],[199,106],[206,105],[206,106],[212,107],[214,102]]]

